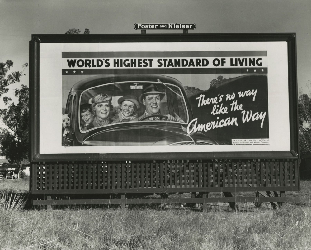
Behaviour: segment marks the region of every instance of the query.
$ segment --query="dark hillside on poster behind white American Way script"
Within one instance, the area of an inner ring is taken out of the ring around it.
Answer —
[[[206,92],[192,96],[190,102],[196,120],[188,126],[189,131],[195,132],[197,128],[226,145],[232,144],[232,139],[269,138],[266,75],[219,81]]]

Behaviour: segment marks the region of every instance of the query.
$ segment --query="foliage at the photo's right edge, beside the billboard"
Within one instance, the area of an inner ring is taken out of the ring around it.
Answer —
[[[310,81],[307,83],[309,88]],[[300,154],[311,153],[311,92],[303,94],[299,91],[298,98],[298,121]]]

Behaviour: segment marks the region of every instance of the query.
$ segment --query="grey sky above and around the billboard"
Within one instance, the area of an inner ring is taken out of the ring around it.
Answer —
[[[310,0],[0,0],[0,62],[10,59],[12,70],[21,70],[29,62],[31,34],[63,34],[70,28],[82,33],[88,28],[92,34],[140,33],[133,28],[140,22],[195,23],[196,29],[189,33],[296,32],[298,88],[307,92],[305,84],[311,80]],[[28,70],[26,74],[21,83],[28,85]],[[3,108],[2,101],[0,106]]]

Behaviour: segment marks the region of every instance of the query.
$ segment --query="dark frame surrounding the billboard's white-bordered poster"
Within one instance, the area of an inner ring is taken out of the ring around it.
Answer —
[[[32,35],[30,41],[30,159],[39,161],[85,161],[92,154],[40,154],[40,43],[60,42],[255,42],[286,41],[288,44],[288,78],[290,110],[290,151],[270,152],[175,152],[175,153],[109,153],[97,154],[94,160],[156,160],[156,159],[241,159],[241,158],[298,158],[298,97],[295,33],[257,34],[137,34],[137,35]]]

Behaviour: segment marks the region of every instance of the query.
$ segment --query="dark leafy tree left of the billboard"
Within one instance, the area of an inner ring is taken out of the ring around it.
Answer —
[[[23,71],[12,72],[7,74],[13,66],[11,60],[0,63],[0,94],[8,92],[8,86],[18,83],[28,63],[22,65]],[[29,88],[21,85],[19,89],[15,89],[15,96],[18,103],[12,102],[10,97],[3,97],[5,109],[0,109],[1,122],[7,128],[0,129],[0,150],[6,155],[10,163],[19,163],[28,159],[29,151]]]

